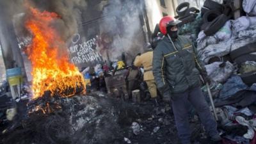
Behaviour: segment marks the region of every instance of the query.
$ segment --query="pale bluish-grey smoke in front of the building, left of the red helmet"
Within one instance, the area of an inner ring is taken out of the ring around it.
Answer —
[[[111,54],[111,60],[120,57],[122,52],[132,58],[136,53],[143,51],[145,40],[140,20],[142,14],[143,2],[141,1],[109,0],[108,5],[104,7],[103,15],[106,18],[100,26],[100,33],[113,36],[111,49],[108,51]],[[102,56],[106,57],[104,54]]]

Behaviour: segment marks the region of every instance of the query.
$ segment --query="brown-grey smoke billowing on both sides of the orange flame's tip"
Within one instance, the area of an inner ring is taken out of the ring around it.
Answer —
[[[54,22],[54,29],[58,31],[61,38],[68,42],[81,23],[81,11],[86,9],[86,0],[10,0],[0,1],[1,12],[4,12],[1,20],[9,26],[14,26],[19,47],[29,44],[30,35],[24,26],[26,19],[29,19],[30,11],[28,6],[57,13],[60,19]]]

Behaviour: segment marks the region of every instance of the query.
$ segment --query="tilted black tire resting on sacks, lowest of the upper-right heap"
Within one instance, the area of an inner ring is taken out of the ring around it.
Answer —
[[[220,30],[229,17],[227,15],[221,14],[216,19],[212,20],[212,22],[209,22],[209,24],[204,29],[204,33],[206,36],[214,35],[218,30]]]

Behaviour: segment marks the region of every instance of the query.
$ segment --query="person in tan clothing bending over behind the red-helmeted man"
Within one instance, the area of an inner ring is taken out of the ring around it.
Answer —
[[[152,61],[153,61],[153,49],[151,48],[151,45],[148,44],[147,52],[136,56],[134,60],[134,66],[136,67],[143,66],[144,68],[143,79],[147,83],[151,98],[156,102],[156,105],[158,105],[157,87],[156,87],[156,82],[154,80],[154,76],[152,72]]]

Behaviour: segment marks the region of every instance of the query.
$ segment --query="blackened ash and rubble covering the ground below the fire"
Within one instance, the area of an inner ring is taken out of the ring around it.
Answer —
[[[0,136],[1,143],[177,143],[169,105],[132,103],[102,93],[42,97],[28,103],[21,124]],[[211,143],[193,121],[193,140]],[[19,139],[17,139],[19,138]]]

